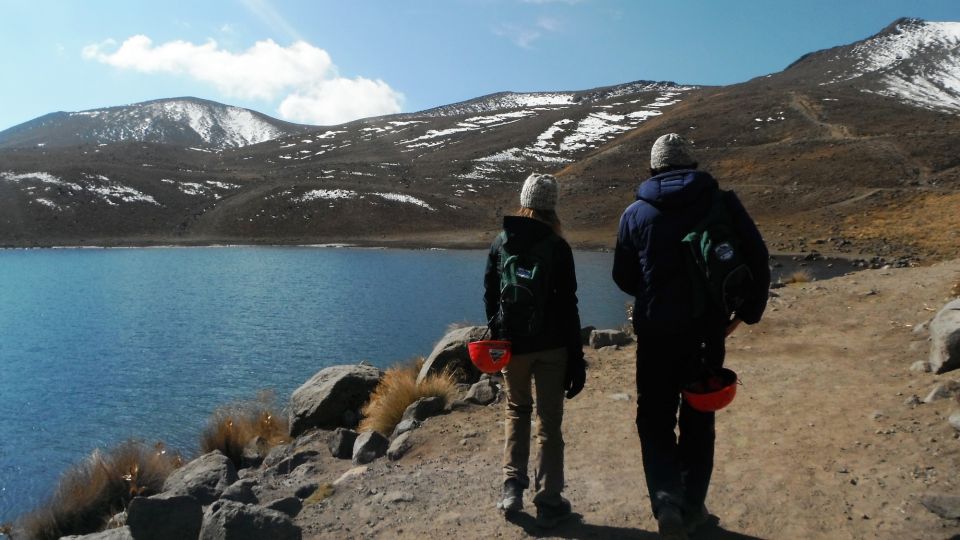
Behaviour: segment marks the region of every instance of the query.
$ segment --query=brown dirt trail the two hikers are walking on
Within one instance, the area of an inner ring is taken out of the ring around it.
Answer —
[[[919,502],[960,493],[960,440],[946,421],[960,405],[907,403],[960,380],[909,370],[928,347],[912,326],[958,280],[954,260],[776,289],[764,321],[728,341],[727,365],[743,384],[717,418],[707,505],[720,528],[694,538],[960,535],[960,522]],[[564,421],[575,519],[538,530],[529,494],[513,522],[493,509],[503,443],[495,404],[432,418],[408,455],[348,475],[299,515],[304,537],[655,538],[633,423],[633,347],[588,349],[587,358],[586,389]],[[327,457],[310,479],[332,483],[350,467]]]

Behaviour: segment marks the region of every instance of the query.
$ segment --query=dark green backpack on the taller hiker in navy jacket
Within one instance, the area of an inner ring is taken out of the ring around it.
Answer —
[[[704,315],[712,303],[730,318],[750,294],[753,274],[746,265],[725,193],[715,190],[706,216],[682,240],[693,285],[694,317]]]

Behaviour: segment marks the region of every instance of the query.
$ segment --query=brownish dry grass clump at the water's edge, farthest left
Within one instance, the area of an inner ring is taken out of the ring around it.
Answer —
[[[25,538],[57,539],[102,530],[138,495],[160,493],[167,476],[182,464],[162,443],[127,441],[68,469],[53,496],[17,524]]]

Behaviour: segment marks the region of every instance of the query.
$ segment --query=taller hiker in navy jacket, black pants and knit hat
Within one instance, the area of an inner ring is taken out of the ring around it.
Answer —
[[[680,389],[704,366],[723,365],[724,339],[760,320],[770,285],[767,248],[732,192],[728,212],[753,274],[744,303],[728,319],[718,307],[694,315],[695,292],[681,239],[706,215],[717,181],[697,170],[690,145],[670,133],[651,150],[652,178],[620,218],[613,279],[636,298],[637,430],[654,515],[665,538],[686,538],[711,519],[704,504],[713,471],[714,413],[681,403]],[[680,435],[674,434],[678,423]]]

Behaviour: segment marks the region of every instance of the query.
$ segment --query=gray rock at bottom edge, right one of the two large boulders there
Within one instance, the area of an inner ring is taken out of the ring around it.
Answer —
[[[300,540],[290,516],[251,504],[217,501],[203,516],[200,540]]]

